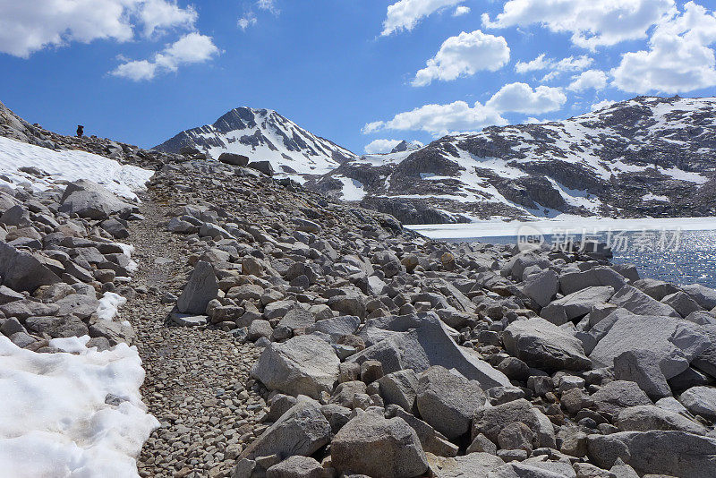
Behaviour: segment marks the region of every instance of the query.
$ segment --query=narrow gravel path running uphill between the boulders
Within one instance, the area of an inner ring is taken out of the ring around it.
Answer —
[[[143,396],[161,428],[142,449],[141,476],[229,476],[243,444],[250,442],[264,402],[247,384],[259,350],[239,344],[218,329],[189,329],[167,323],[172,304],[190,271],[185,239],[166,232],[166,208],[141,198],[143,221],[132,224],[126,241],[139,263],[132,285],[138,294],[122,311],[137,334],[147,378]],[[247,389],[245,389],[247,388]]]

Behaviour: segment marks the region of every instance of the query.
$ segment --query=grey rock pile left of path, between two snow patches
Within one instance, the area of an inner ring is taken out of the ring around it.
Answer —
[[[42,177],[36,168],[25,173]],[[51,352],[48,340],[89,335],[104,350],[131,344],[112,307],[132,294],[131,249],[118,241],[137,205],[80,180],[45,192],[0,189],[0,332],[17,346]],[[107,303],[100,303],[103,295]]]

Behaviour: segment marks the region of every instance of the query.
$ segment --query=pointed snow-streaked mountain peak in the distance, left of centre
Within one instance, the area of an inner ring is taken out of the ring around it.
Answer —
[[[221,153],[243,154],[252,160],[268,160],[279,172],[322,175],[356,158],[348,149],[316,136],[272,109],[238,107],[214,124],[177,134],[154,149],[178,152],[191,146],[212,158]]]

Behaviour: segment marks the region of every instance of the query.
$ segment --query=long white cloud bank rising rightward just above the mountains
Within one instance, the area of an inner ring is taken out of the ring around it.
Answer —
[[[541,114],[558,110],[566,101],[567,97],[558,88],[540,86],[533,90],[524,83],[512,83],[502,87],[484,105],[479,101],[473,106],[465,101],[425,105],[399,113],[388,121],[366,124],[362,132],[424,131],[439,136],[449,132],[475,131],[485,126],[507,124],[503,113]]]

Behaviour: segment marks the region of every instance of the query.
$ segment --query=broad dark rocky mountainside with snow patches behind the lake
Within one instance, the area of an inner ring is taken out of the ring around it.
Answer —
[[[356,158],[306,185],[405,223],[716,214],[716,98],[639,97]]]

